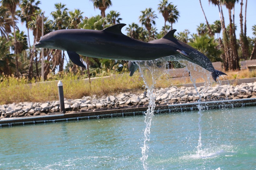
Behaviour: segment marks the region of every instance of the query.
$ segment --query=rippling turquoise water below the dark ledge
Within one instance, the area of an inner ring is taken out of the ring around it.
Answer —
[[[256,107],[155,114],[148,169],[255,169]],[[0,169],[143,169],[144,116],[0,129]]]

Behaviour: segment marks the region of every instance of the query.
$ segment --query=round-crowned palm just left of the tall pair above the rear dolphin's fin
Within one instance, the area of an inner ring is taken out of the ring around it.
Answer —
[[[152,24],[155,25],[155,18],[157,18],[155,11],[152,8],[146,8],[144,11],[140,11],[142,15],[139,17],[140,23],[145,26],[149,32],[149,38],[151,36]]]

